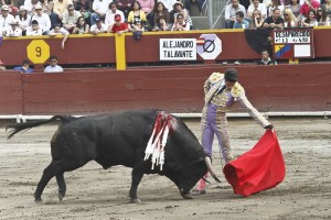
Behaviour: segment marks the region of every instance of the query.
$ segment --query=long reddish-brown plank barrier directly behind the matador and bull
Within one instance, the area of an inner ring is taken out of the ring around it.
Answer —
[[[0,74],[0,114],[93,114],[157,108],[201,112],[203,84],[224,66],[65,69]],[[263,112],[330,111],[331,64],[236,66],[248,99]],[[245,111],[239,106],[235,112]]]

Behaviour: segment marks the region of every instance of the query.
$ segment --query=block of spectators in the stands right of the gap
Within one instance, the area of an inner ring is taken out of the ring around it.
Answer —
[[[330,26],[330,20],[331,0],[231,0],[225,8],[225,29]]]

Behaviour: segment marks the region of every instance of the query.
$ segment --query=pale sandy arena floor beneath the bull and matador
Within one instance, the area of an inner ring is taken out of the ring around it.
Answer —
[[[200,136],[197,120],[185,120]],[[331,219],[331,120],[280,118],[275,124],[286,161],[285,180],[247,198],[226,183],[214,142],[214,167],[222,183],[211,179],[207,194],[184,200],[167,177],[146,175],[139,186],[142,204],[129,204],[130,168],[103,169],[90,162],[65,173],[67,195],[57,199],[55,178],[35,204],[33,193],[50,164],[50,140],[56,125],[42,125],[7,141],[0,129],[0,219]],[[264,130],[250,119],[229,120],[235,155],[248,151]]]

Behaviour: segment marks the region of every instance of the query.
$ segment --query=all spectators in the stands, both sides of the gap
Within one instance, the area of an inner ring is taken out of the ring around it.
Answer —
[[[0,35],[189,31],[192,2],[202,14],[205,0],[1,0]],[[328,26],[330,19],[331,0],[231,0],[225,7],[225,29]]]

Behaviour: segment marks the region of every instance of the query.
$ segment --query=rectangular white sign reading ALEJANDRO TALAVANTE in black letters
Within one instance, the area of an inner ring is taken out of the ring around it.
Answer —
[[[160,38],[160,61],[196,61],[196,40]]]

